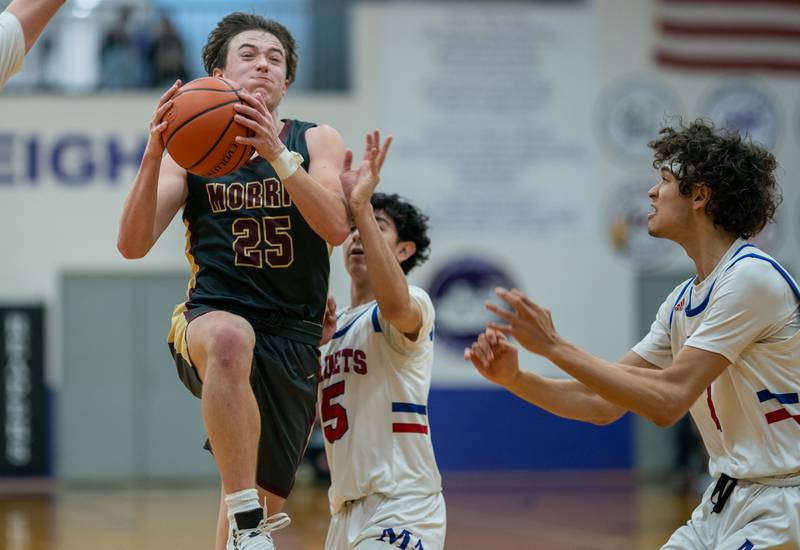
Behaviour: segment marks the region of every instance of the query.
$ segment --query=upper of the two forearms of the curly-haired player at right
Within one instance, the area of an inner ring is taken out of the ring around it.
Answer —
[[[681,402],[678,385],[662,370],[614,365],[565,341],[559,341],[547,358],[608,402],[633,411],[659,426],[676,420]]]

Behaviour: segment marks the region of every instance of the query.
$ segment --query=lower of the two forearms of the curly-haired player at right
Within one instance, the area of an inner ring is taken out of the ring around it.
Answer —
[[[592,424],[610,424],[626,412],[577,380],[556,380],[520,371],[516,380],[506,389],[557,416]]]

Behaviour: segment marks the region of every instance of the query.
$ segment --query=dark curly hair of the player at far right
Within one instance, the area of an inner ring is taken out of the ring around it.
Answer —
[[[677,163],[675,177],[683,196],[689,196],[695,185],[707,185],[711,197],[706,213],[714,225],[749,239],[774,221],[782,197],[772,153],[742,139],[735,130],[715,129],[703,119],[688,126],[681,122],[659,134],[647,144],[655,151],[653,166]]]

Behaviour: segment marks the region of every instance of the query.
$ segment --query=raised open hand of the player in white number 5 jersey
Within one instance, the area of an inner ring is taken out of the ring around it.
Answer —
[[[364,148],[364,159],[357,168],[353,168],[353,151],[347,150],[344,158],[344,171],[339,179],[345,199],[352,212],[356,212],[370,204],[369,200],[381,179],[381,168],[386,160],[392,136],[381,144],[379,130],[367,134]]]

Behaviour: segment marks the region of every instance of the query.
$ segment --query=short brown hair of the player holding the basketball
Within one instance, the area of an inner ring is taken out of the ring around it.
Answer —
[[[249,30],[268,32],[280,41],[286,54],[286,79],[289,84],[294,82],[297,75],[297,43],[289,29],[272,19],[240,11],[223,17],[208,34],[208,41],[203,46],[203,67],[206,72],[210,75],[214,69],[224,69],[231,40],[237,34]]]

